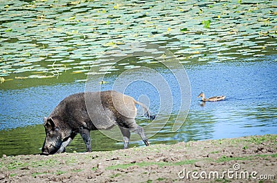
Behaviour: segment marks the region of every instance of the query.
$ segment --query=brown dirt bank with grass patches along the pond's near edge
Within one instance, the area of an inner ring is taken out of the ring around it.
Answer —
[[[0,182],[276,182],[276,145],[277,135],[262,135],[2,157]]]

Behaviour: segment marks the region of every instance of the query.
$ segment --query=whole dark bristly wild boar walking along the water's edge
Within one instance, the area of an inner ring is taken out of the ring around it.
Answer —
[[[141,102],[114,90],[69,95],[48,117],[44,117],[46,138],[42,154],[64,152],[78,133],[84,139],[87,151],[91,152],[90,131],[107,130],[114,125],[118,125],[123,134],[123,148],[128,147],[130,131],[138,133],[148,146],[143,128],[134,119],[137,114],[135,104],[142,106],[151,120],[155,118]]]

